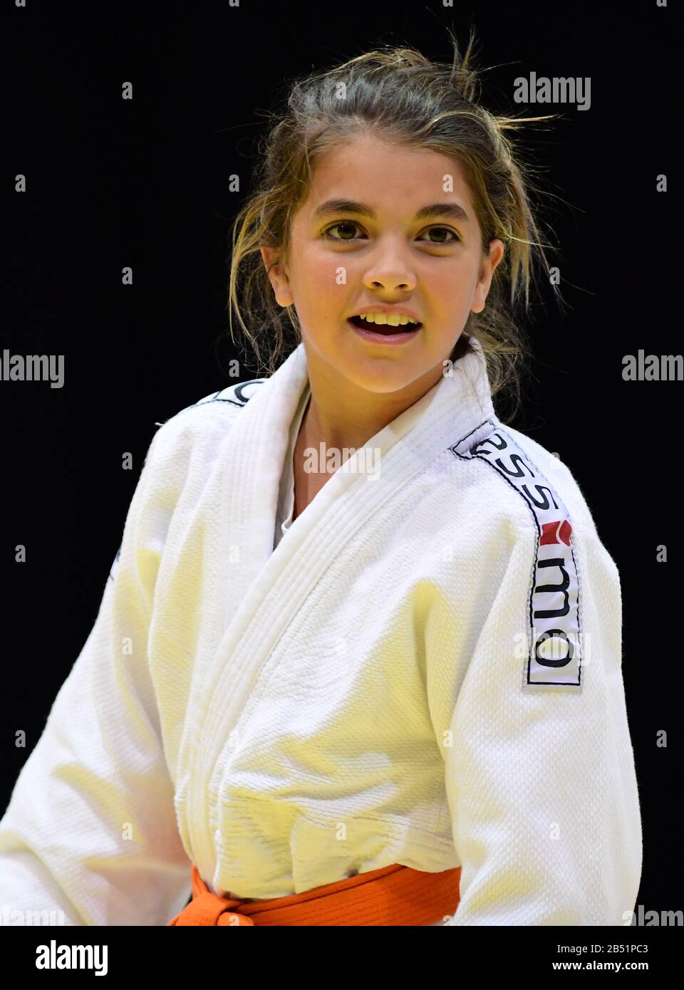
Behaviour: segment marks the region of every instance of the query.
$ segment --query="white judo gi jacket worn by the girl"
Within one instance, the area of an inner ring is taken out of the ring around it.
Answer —
[[[623,925],[620,577],[572,474],[498,421],[478,348],[273,549],[307,380],[300,344],[155,434],[0,821],[0,912],[165,925],[189,860],[241,898],[403,863],[462,866],[456,926]]]

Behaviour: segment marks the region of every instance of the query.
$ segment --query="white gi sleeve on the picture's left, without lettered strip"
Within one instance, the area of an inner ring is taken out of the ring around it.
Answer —
[[[168,490],[168,465],[159,478],[155,459],[162,433],[147,450],[95,624],[0,820],[0,924],[160,926],[190,895],[147,664],[169,518],[158,497]]]

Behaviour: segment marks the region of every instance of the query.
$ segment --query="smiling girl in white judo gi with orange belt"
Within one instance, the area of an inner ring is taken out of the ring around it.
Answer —
[[[469,53],[372,51],[292,88],[231,272],[273,373],[149,446],[0,823],[10,910],[584,926],[633,909],[620,577],[568,468],[493,408],[538,234],[503,135],[519,122],[477,104]]]

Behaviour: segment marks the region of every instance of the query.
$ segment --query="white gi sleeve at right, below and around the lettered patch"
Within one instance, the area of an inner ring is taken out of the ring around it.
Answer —
[[[449,926],[622,926],[641,819],[622,675],[615,562],[573,531],[581,691],[523,688],[537,532],[519,530],[458,691],[443,748],[460,901]]]

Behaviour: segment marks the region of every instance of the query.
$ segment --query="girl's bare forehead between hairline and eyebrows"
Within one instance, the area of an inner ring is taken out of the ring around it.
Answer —
[[[455,158],[431,148],[406,148],[365,133],[343,139],[316,160],[302,212],[310,215],[329,199],[356,200],[378,214],[386,211],[413,216],[435,200],[453,200],[466,210],[472,208],[468,185]]]

